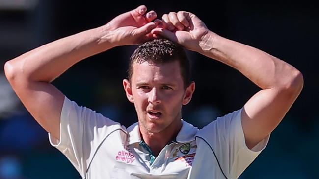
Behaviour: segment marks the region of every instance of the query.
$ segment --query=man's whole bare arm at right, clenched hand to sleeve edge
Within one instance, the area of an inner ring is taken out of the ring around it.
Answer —
[[[257,48],[211,32],[194,14],[164,14],[162,28],[152,33],[239,70],[262,90],[252,96],[241,112],[246,145],[254,147],[269,135],[298,97],[303,87],[300,71]]]

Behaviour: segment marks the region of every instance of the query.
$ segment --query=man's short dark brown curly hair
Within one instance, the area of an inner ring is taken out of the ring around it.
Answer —
[[[154,39],[138,46],[133,52],[128,69],[131,81],[134,63],[149,62],[153,64],[179,61],[184,89],[190,85],[190,63],[184,48],[167,39]]]

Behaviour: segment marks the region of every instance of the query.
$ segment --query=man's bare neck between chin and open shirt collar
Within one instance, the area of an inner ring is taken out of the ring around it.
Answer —
[[[158,156],[165,145],[167,145],[170,141],[175,140],[177,134],[181,130],[181,127],[182,121],[176,120],[159,133],[151,133],[149,131],[143,130],[141,127],[140,133],[142,139],[151,148],[153,154]]]

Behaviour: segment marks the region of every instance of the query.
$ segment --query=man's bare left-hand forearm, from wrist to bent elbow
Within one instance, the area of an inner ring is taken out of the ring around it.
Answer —
[[[51,82],[80,60],[112,47],[104,26],[86,30],[18,56],[5,64],[8,79]]]

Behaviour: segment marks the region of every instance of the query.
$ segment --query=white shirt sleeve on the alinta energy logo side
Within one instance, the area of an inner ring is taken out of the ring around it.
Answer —
[[[97,147],[108,134],[120,127],[119,123],[78,106],[65,96],[60,117],[60,138],[54,138],[49,133],[49,141],[84,178],[87,165]]]

